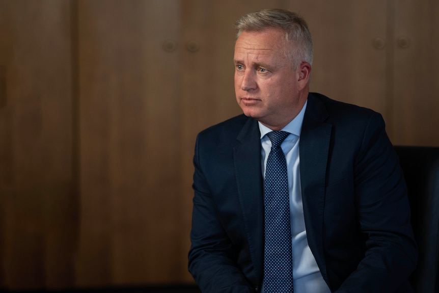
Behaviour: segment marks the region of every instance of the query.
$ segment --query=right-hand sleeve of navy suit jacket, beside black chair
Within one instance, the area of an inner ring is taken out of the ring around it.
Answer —
[[[379,114],[364,131],[354,162],[354,191],[366,253],[336,292],[410,291],[401,283],[416,267],[417,247],[403,173]]]

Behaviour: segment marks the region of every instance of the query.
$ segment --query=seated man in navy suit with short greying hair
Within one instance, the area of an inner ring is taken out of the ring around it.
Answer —
[[[197,284],[203,292],[412,292],[417,248],[381,115],[309,93],[312,41],[296,14],[263,10],[236,28],[244,115],[200,132],[195,148],[189,271]]]

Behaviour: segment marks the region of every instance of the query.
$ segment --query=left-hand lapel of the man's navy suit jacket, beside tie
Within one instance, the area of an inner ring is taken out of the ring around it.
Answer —
[[[264,211],[258,122],[249,118],[237,140],[240,143],[233,148],[236,184],[255,268],[255,279],[259,282],[262,274]]]

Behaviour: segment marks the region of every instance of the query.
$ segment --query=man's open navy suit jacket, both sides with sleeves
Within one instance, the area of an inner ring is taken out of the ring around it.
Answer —
[[[376,112],[310,93],[299,141],[308,243],[337,292],[411,292],[417,248],[406,185]],[[258,123],[197,137],[189,271],[203,292],[255,292],[263,277]]]

